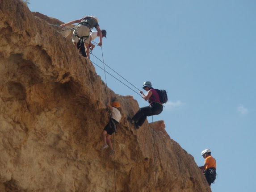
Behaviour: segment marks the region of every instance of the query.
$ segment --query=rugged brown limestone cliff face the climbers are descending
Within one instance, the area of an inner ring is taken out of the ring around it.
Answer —
[[[209,192],[164,121],[135,130],[137,101],[109,88],[122,120],[114,157],[100,150],[105,83],[43,17],[0,0],[0,192]]]

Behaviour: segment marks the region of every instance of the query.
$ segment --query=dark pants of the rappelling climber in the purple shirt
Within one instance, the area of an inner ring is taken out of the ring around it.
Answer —
[[[138,125],[143,125],[147,116],[158,115],[163,111],[163,105],[153,102],[148,107],[143,107],[132,117],[132,120]]]

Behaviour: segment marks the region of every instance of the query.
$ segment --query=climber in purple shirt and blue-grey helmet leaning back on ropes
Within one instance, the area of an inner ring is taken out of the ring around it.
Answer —
[[[144,100],[148,100],[149,106],[140,108],[131,119],[130,117],[127,117],[128,121],[134,124],[135,129],[138,129],[143,125],[147,116],[158,115],[163,111],[163,105],[160,102],[158,92],[152,88],[150,81],[143,83],[143,89],[147,91],[147,94],[144,95],[143,91],[140,91],[140,93],[143,95],[142,98]]]

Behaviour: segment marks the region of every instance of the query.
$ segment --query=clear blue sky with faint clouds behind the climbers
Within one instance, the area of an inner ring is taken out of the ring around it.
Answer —
[[[202,150],[213,151],[218,178],[212,190],[255,191],[256,1],[30,0],[29,8],[63,22],[98,17],[107,30],[105,63],[138,88],[151,81],[168,91],[154,121],[164,120],[198,165]],[[93,54],[101,58],[100,47]],[[109,75],[107,83],[147,105]]]

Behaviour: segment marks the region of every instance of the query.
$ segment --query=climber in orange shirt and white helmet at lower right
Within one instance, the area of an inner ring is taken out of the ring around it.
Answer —
[[[211,156],[211,150],[205,149],[201,152],[201,155],[205,159],[205,164],[201,167],[202,172],[206,175],[206,180],[208,184],[211,186],[211,184],[216,179],[216,160]]]

